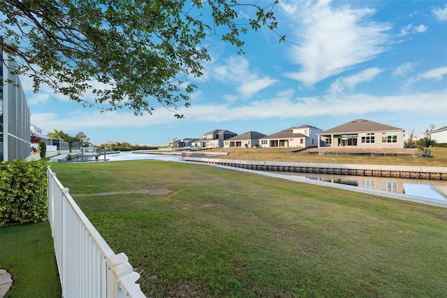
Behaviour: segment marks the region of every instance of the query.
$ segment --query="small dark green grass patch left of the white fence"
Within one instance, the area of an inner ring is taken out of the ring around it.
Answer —
[[[13,278],[6,297],[61,297],[49,222],[0,227],[0,268]]]

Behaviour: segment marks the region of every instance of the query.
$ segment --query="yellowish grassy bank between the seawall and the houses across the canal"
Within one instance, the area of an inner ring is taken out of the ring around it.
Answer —
[[[429,148],[433,158],[421,157],[367,157],[290,154],[293,148],[219,148],[207,150],[229,152],[219,158],[242,160],[267,160],[279,162],[321,162],[339,164],[391,164],[402,166],[447,166],[447,148]],[[401,149],[402,150],[402,149]],[[413,149],[409,149],[413,150]]]

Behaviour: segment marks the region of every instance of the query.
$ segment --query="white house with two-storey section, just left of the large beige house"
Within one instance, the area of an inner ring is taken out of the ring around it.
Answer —
[[[323,129],[313,127],[312,125],[301,125],[291,127],[281,132],[270,134],[259,139],[261,148],[307,148],[316,147],[318,144],[318,132]]]

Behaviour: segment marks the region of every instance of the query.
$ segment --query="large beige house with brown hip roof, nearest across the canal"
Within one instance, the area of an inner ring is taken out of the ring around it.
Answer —
[[[404,129],[357,119],[318,133],[318,148],[403,148]]]

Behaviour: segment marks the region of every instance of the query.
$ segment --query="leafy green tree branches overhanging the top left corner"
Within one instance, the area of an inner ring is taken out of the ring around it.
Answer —
[[[189,106],[196,85],[188,78],[202,76],[210,60],[206,38],[219,36],[241,54],[240,34],[276,32],[277,0],[242,1],[3,0],[0,45],[18,57],[15,72],[31,76],[35,92],[45,83],[101,111],[152,113],[157,102],[176,110]],[[237,12],[242,7],[249,20]]]

